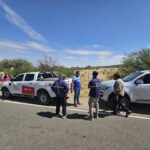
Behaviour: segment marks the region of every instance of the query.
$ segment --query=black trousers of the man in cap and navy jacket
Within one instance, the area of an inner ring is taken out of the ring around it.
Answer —
[[[60,112],[60,106],[62,105],[62,114],[63,116],[66,115],[66,107],[67,101],[65,97],[56,97],[56,115]]]

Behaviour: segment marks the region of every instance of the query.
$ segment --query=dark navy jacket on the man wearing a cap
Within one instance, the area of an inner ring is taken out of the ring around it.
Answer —
[[[69,91],[69,86],[63,79],[58,79],[52,85],[52,90],[55,92],[56,97],[66,97]]]

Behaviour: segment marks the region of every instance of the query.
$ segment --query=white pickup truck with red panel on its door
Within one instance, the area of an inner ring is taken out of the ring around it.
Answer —
[[[3,83],[1,88],[2,96],[4,99],[12,96],[37,97],[41,104],[48,105],[56,97],[51,89],[51,85],[57,79],[58,77],[53,72],[28,72],[19,74],[11,79],[11,81]],[[68,78],[65,81],[70,87],[72,79]]]

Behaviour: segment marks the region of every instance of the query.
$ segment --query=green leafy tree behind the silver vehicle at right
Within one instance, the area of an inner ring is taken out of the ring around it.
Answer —
[[[144,48],[138,52],[131,52],[123,58],[120,71],[123,75],[127,75],[137,70],[150,69],[150,49]]]

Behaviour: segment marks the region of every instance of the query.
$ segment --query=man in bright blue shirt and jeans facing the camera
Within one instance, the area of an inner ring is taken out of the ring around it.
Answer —
[[[72,86],[71,86],[71,93],[74,90],[74,106],[81,105],[79,97],[80,97],[80,89],[81,89],[81,82],[80,82],[80,72],[76,71],[75,76],[72,78]]]

